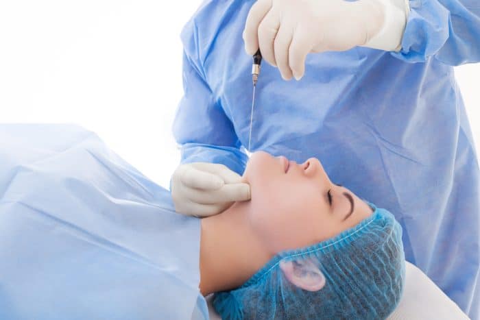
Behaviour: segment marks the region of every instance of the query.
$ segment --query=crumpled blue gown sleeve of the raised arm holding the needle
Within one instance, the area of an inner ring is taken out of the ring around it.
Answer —
[[[431,56],[451,66],[480,61],[478,0],[409,0],[402,49],[392,53],[407,62]]]

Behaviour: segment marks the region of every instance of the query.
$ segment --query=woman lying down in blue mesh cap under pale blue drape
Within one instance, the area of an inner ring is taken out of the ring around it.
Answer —
[[[322,165],[254,153],[251,201],[205,219],[70,125],[0,127],[0,319],[385,319],[392,214]]]

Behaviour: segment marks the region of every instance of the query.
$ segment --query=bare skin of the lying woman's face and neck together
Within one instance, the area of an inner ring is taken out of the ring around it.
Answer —
[[[259,151],[243,180],[250,201],[202,219],[203,295],[237,288],[278,252],[324,241],[372,214],[350,190],[333,184],[315,158],[297,164]]]

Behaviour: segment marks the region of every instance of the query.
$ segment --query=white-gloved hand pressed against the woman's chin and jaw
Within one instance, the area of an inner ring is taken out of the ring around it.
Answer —
[[[250,199],[250,186],[223,164],[180,164],[171,178],[175,210],[195,217],[220,213],[234,201]]]

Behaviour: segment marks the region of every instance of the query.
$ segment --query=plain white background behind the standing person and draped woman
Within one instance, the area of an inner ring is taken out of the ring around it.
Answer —
[[[180,160],[180,31],[199,4],[0,0],[0,122],[80,124],[168,187]],[[456,73],[478,143],[480,64]]]

